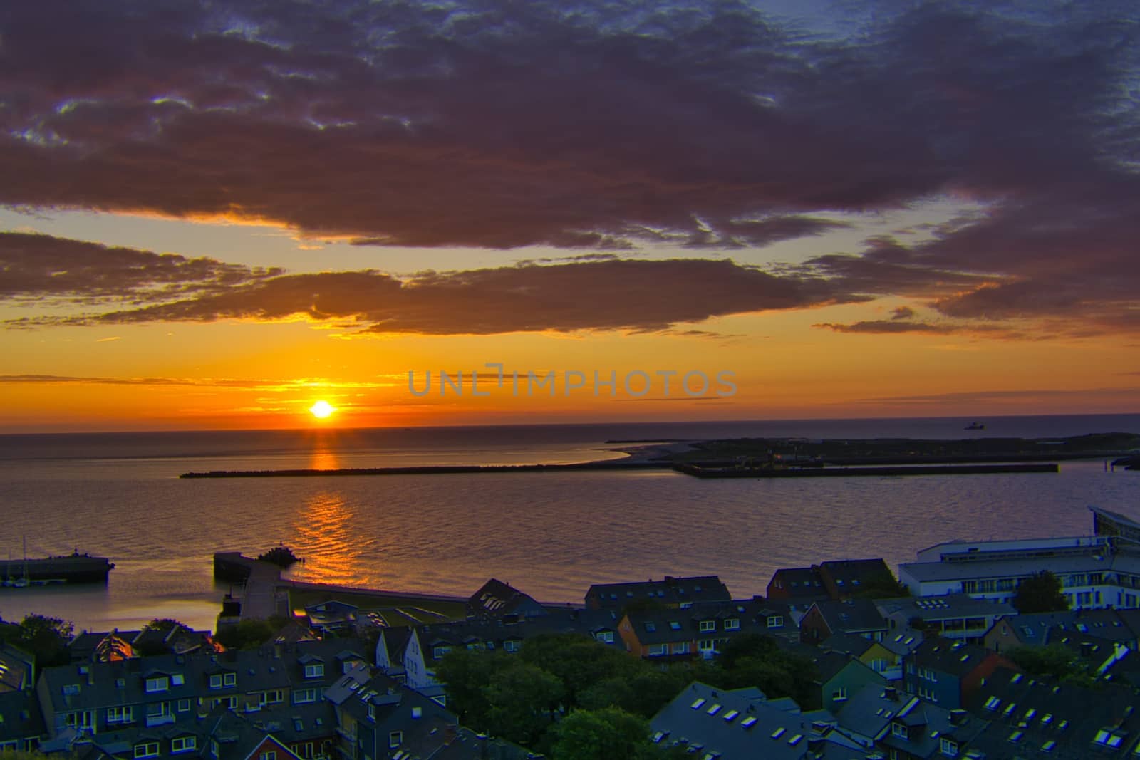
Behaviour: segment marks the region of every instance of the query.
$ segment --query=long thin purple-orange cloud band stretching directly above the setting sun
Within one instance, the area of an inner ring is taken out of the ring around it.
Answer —
[[[9,326],[302,317],[375,333],[658,332],[724,314],[852,300],[858,296],[823,280],[775,276],[727,260],[601,260],[427,271],[406,279],[378,271],[283,275],[137,309]]]

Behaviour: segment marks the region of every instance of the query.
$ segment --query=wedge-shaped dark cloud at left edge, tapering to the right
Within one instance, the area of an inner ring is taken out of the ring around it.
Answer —
[[[279,269],[187,259],[49,235],[0,232],[0,300],[122,299],[146,303],[220,293],[282,273]]]

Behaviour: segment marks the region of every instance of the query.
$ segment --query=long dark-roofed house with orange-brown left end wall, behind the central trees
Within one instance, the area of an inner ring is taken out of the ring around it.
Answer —
[[[638,657],[712,657],[743,634],[787,638],[793,631],[787,605],[763,598],[632,611],[618,624],[626,651]]]

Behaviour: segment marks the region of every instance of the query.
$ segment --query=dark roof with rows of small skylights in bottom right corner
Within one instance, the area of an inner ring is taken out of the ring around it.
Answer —
[[[986,758],[1131,758],[1140,744],[1138,700],[1129,688],[1105,685],[1088,689],[1053,684],[997,668],[971,696],[967,708],[992,721],[975,743]],[[1106,734],[1101,735],[1101,732]],[[1011,741],[1015,734],[1020,734]],[[1119,736],[1116,747],[1110,736]],[[1098,736],[1102,736],[1100,743]],[[1053,744],[1043,750],[1047,743]]]

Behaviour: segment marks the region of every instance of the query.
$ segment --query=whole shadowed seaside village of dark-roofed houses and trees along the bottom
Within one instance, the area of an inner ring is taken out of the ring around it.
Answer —
[[[540,603],[367,606],[318,588],[174,620],[2,626],[0,751],[108,759],[901,760],[1140,754],[1140,524],[777,570],[595,585]],[[231,557],[233,559],[233,557]],[[264,580],[262,578],[262,580]],[[259,605],[268,616],[243,614]]]

